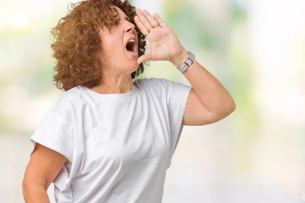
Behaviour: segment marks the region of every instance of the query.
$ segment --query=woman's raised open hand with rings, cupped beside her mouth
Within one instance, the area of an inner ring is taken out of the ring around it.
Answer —
[[[137,9],[136,14],[134,21],[143,35],[148,32],[146,39],[149,43],[149,54],[140,56],[137,61],[138,64],[149,60],[173,62],[186,52],[174,31],[157,13],[154,13],[153,17],[146,10]],[[158,24],[160,26],[154,28]]]

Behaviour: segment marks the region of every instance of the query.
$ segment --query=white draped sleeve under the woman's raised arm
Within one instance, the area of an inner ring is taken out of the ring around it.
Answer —
[[[192,86],[178,82],[162,79],[162,83],[166,87],[166,99],[169,113],[170,127],[170,157],[168,167],[171,164],[174,151],[179,142],[179,138],[183,129],[182,119],[187,105],[190,90]]]

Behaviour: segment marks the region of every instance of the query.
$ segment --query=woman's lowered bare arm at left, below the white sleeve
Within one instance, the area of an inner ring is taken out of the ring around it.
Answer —
[[[22,181],[22,192],[25,202],[50,202],[47,189],[66,160],[67,158],[64,155],[36,143]]]

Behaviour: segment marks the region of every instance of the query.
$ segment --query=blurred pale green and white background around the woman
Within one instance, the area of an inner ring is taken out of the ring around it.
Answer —
[[[49,31],[70,2],[1,1],[1,202],[23,201],[28,139],[63,93],[52,81]],[[237,106],[220,122],[184,128],[163,202],[305,202],[305,1],[131,3],[159,13]],[[165,61],[143,77],[189,84]]]

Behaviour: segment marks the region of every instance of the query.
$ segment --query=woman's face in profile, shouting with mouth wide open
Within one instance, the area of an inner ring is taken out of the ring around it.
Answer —
[[[114,7],[119,13],[117,24],[111,33],[107,27],[104,27],[104,30],[101,29],[99,33],[106,61],[103,57],[100,59],[103,67],[115,75],[131,74],[139,67],[137,31],[135,25],[129,22],[127,15],[118,7]],[[129,42],[130,40],[134,43]],[[131,44],[131,46],[126,46],[128,42],[128,45]]]

